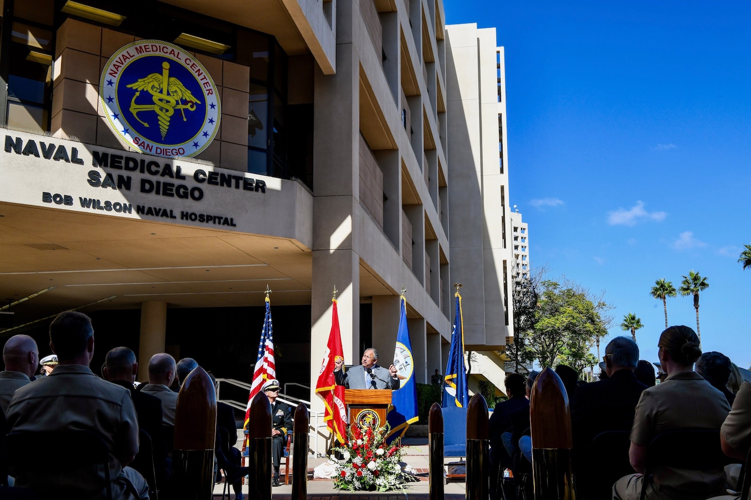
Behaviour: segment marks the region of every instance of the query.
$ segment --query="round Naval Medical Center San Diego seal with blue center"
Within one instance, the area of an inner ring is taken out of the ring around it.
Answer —
[[[164,41],[116,50],[102,71],[99,98],[118,137],[149,155],[198,155],[219,131],[222,105],[211,75],[191,53]]]

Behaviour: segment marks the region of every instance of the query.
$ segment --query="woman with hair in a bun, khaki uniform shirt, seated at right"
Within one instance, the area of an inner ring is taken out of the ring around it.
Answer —
[[[641,393],[631,429],[629,460],[635,471],[613,485],[614,500],[638,500],[647,447],[659,434],[677,429],[719,429],[728,400],[698,373],[699,339],[689,327],[669,327],[657,343],[657,356],[668,378]],[[648,500],[704,500],[725,491],[725,471],[660,468],[647,484]]]

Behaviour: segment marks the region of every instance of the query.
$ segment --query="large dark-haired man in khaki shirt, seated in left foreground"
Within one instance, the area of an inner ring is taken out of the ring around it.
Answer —
[[[65,431],[95,432],[110,450],[110,478],[113,498],[149,498],[149,486],[134,469],[127,467],[138,452],[138,421],[128,390],[101,380],[89,369],[94,356],[94,329],[91,320],[80,312],[62,312],[50,324],[50,347],[59,364],[47,377],[16,390],[8,406],[11,432]],[[65,450],[56,459],[65,460]],[[82,468],[60,477],[44,467],[35,471],[13,469],[16,486],[52,494],[62,482],[80,486],[80,498],[100,498],[101,481],[92,470]],[[55,495],[53,495],[54,497]]]

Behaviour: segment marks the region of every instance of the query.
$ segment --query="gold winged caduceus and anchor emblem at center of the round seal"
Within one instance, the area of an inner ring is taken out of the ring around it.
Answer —
[[[185,122],[187,121],[185,110],[195,111],[195,105],[201,104],[201,101],[198,101],[195,95],[185,89],[180,80],[170,77],[170,63],[168,62],[161,63],[161,74],[152,73],[148,77],[140,78],[136,83],[128,85],[128,89],[137,90],[131,99],[130,112],[144,127],[148,127],[149,124],[140,119],[138,113],[154,111],[159,122],[162,140],[167,135],[167,130],[170,128],[170,118],[175,110],[180,110],[182,121]],[[136,99],[142,90],[151,94],[153,104],[136,104]],[[185,101],[185,104],[182,104],[183,101]]]

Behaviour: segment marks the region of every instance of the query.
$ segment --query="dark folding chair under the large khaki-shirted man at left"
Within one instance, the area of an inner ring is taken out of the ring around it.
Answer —
[[[44,432],[11,432],[6,438],[8,447],[9,468],[11,475],[20,477],[29,474],[34,477],[35,472],[45,469],[59,473],[59,477],[66,477],[72,471],[89,467],[92,471],[92,481],[101,481],[101,489],[107,491],[107,498],[112,500],[112,482],[110,480],[110,450],[107,443],[95,432],[86,430],[44,431]],[[48,460],[42,463],[39,458],[39,450],[53,447],[56,450],[64,450],[65,459]],[[104,469],[104,480],[101,480],[98,471]],[[44,486],[44,494],[53,493],[60,498],[77,498],[81,496],[81,488],[78,485],[59,484],[53,486],[50,491],[49,485]],[[32,486],[35,489],[35,486]]]

